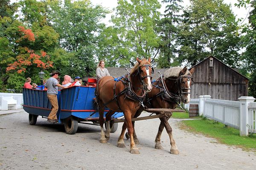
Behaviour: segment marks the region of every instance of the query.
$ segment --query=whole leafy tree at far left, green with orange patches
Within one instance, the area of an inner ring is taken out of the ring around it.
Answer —
[[[59,35],[52,27],[46,25],[46,22],[33,19],[42,15],[40,10],[35,10],[40,3],[45,4],[43,1],[35,0],[6,3],[12,7],[12,10],[5,13],[8,16],[0,17],[0,30],[2,30],[0,47],[3,47],[0,49],[0,76],[3,80],[1,89],[13,87],[16,91],[20,91],[21,86],[18,88],[18,85],[24,83],[20,77],[32,77],[33,82],[39,83],[38,72],[41,69],[52,70],[52,58],[47,53],[55,51]],[[19,20],[14,16],[16,11],[14,9],[17,9],[14,7],[17,4],[21,5],[22,15]],[[41,8],[43,10],[42,6]]]

